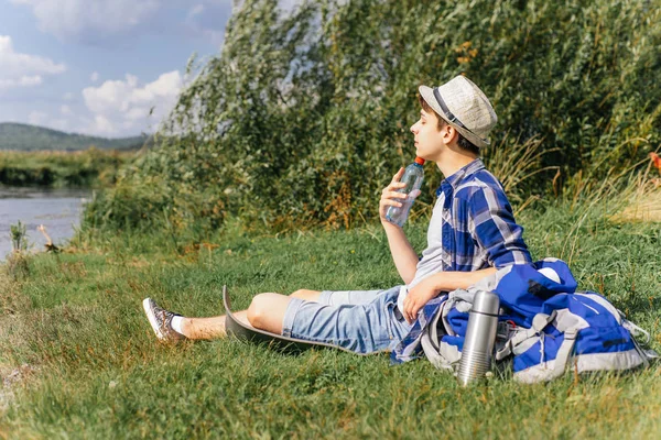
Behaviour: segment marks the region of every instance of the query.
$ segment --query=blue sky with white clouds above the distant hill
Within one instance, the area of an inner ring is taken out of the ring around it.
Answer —
[[[0,122],[152,133],[191,55],[220,52],[231,11],[232,0],[0,0]]]

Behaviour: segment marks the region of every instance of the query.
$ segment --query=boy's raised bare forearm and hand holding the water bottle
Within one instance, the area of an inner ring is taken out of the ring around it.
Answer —
[[[391,206],[401,207],[401,201],[407,198],[407,195],[397,193],[398,188],[402,188],[407,185],[400,182],[402,174],[404,174],[404,168],[400,168],[400,170],[392,176],[390,184],[383,188],[381,200],[379,201],[379,218],[381,219],[381,224],[388,237],[388,245],[390,246],[390,254],[392,255],[397,272],[399,272],[402,280],[405,284],[409,284],[415,277],[418,254],[415,254],[413,246],[409,243],[404,231],[397,224],[392,224],[386,220],[388,208]]]

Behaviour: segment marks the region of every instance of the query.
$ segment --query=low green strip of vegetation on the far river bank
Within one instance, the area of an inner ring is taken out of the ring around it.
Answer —
[[[0,152],[0,185],[63,187],[109,187],[118,169],[134,152]]]

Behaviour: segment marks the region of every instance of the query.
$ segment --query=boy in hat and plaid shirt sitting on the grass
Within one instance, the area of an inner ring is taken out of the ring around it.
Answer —
[[[259,294],[237,318],[285,337],[326,342],[359,353],[391,351],[411,330],[418,311],[441,292],[467,288],[497,268],[531,263],[500,183],[485,169],[479,148],[489,145],[497,122],[491,103],[470,80],[457,76],[441,87],[420,87],[420,119],[411,132],[415,154],[445,176],[436,190],[427,248],[419,260],[401,228],[386,220],[401,168],[383,189],[379,217],[403,286],[387,290]],[[148,319],[161,340],[212,339],[225,332],[225,317],[184,318],[147,298]]]

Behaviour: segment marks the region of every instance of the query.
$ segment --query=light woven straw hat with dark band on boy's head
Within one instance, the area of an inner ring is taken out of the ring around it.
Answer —
[[[476,146],[489,145],[498,117],[486,95],[470,79],[456,76],[441,87],[420,86],[422,99]]]

